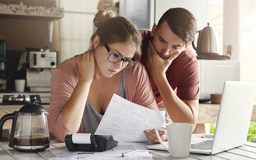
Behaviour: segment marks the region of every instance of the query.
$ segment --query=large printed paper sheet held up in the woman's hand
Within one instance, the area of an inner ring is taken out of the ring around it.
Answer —
[[[148,141],[144,130],[162,127],[165,111],[155,111],[113,95],[95,135],[112,135],[117,141]]]

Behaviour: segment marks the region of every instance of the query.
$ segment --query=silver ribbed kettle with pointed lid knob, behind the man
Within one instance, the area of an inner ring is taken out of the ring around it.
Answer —
[[[195,47],[194,41],[192,46],[196,50],[197,55],[202,54],[220,54],[220,40],[213,27],[204,27],[203,30],[198,30],[197,47]]]

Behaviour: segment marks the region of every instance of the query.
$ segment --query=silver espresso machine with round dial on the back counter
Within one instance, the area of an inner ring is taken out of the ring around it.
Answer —
[[[49,92],[52,70],[56,67],[57,53],[27,49],[26,84],[30,92]]]

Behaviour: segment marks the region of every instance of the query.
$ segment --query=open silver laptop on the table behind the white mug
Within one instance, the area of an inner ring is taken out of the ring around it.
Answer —
[[[256,82],[226,81],[214,139],[191,138],[190,153],[216,154],[245,144],[256,95]],[[204,144],[208,149],[195,149]],[[168,146],[168,142],[164,142]],[[161,144],[148,145],[148,149],[166,150]]]

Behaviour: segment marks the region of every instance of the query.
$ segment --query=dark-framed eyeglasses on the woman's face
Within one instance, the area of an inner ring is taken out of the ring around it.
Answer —
[[[107,51],[109,53],[109,56],[108,56],[109,62],[118,63],[120,61],[123,61],[123,63],[122,63],[123,68],[131,68],[131,67],[133,67],[134,64],[136,64],[134,57],[132,58],[133,61],[126,60],[123,57],[111,52],[110,49],[108,48],[107,44],[105,45],[105,48],[107,49]]]

